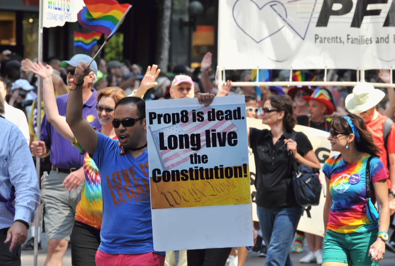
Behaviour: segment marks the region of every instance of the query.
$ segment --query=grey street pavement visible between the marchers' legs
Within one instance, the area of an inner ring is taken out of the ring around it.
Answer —
[[[45,258],[47,257],[47,249],[48,249],[48,245],[45,241],[45,234],[41,233],[41,245],[43,247],[43,249],[41,249],[38,252],[38,265],[42,266],[44,265],[45,262]],[[308,249],[307,246],[304,247],[305,252],[303,253],[291,253],[291,258],[293,261],[293,264],[295,264],[295,266],[316,266],[317,264],[315,263],[311,263],[311,264],[305,264],[305,263],[299,263],[299,260],[306,255],[306,251]],[[176,254],[176,258],[177,258],[177,254]],[[22,266],[33,266],[33,251],[32,250],[28,250],[28,251],[22,251],[22,256],[21,256],[21,260],[22,260]],[[246,259],[245,262],[245,266],[264,266],[265,265],[265,260],[266,258],[264,257],[259,257],[258,254],[256,253],[248,253],[248,257]],[[228,266],[229,263],[226,264],[226,266]],[[386,251],[386,254],[384,255],[384,259],[379,262],[380,266],[394,266],[395,265],[395,253]],[[63,258],[63,266],[72,266],[71,265],[71,250],[67,249],[66,251],[66,255]]]

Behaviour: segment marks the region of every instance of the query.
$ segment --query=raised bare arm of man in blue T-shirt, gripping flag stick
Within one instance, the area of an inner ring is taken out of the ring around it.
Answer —
[[[84,77],[90,73],[90,68],[84,62],[81,62],[75,68],[74,83],[81,84]],[[94,154],[98,144],[98,135],[90,126],[88,121],[82,117],[82,86],[71,88],[66,108],[66,122],[69,124],[71,131],[81,146],[91,155]]]

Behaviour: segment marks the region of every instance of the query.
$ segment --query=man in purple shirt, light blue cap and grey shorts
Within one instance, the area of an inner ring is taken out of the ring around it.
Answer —
[[[66,68],[68,87],[71,89],[77,64],[92,60],[88,55],[75,55],[69,61],[62,61],[60,66]],[[92,70],[83,82],[83,117],[91,126],[99,129],[97,119],[96,91],[92,85],[96,82],[97,64],[90,65]],[[59,114],[66,116],[68,94],[56,97]],[[52,163],[51,173],[41,179],[42,228],[48,241],[48,253],[45,266],[61,265],[70,241],[71,228],[75,217],[75,207],[81,200],[80,185],[85,180],[83,172],[83,155],[71,142],[61,136],[44,115],[41,126],[41,141],[33,141],[32,153],[46,157],[49,152]]]

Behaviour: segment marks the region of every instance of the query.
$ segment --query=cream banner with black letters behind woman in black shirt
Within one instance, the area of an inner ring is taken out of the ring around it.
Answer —
[[[270,129],[269,126],[263,125],[260,119],[247,118],[247,127],[259,128],[259,129]],[[325,160],[327,158],[332,157],[334,155],[339,154],[338,152],[331,151],[331,143],[327,139],[329,136],[328,132],[318,130],[315,128],[310,128],[307,126],[296,125],[293,128],[295,131],[303,132],[308,140],[310,140],[311,145],[313,146],[314,153],[316,154],[318,160],[320,161],[321,167],[324,165]],[[251,194],[256,194],[256,188],[254,186],[255,179],[255,161],[254,154],[252,154],[252,149],[248,149],[249,155],[249,165],[250,165],[250,184],[251,184]],[[325,194],[326,194],[326,181],[325,175],[320,170],[320,181],[322,185],[320,204],[318,206],[311,206],[305,208],[305,212],[303,212],[302,217],[300,218],[297,230],[301,230],[303,232],[308,232],[311,234],[315,234],[318,236],[324,236],[324,203],[325,203]],[[252,216],[254,221],[258,221],[258,216],[256,215],[256,204],[252,203]]]

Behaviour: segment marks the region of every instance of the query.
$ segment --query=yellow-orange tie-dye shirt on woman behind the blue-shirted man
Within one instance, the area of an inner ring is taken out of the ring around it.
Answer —
[[[100,172],[95,162],[85,153],[83,169],[85,183],[81,192],[81,201],[75,208],[75,220],[93,228],[102,227],[103,199]]]

